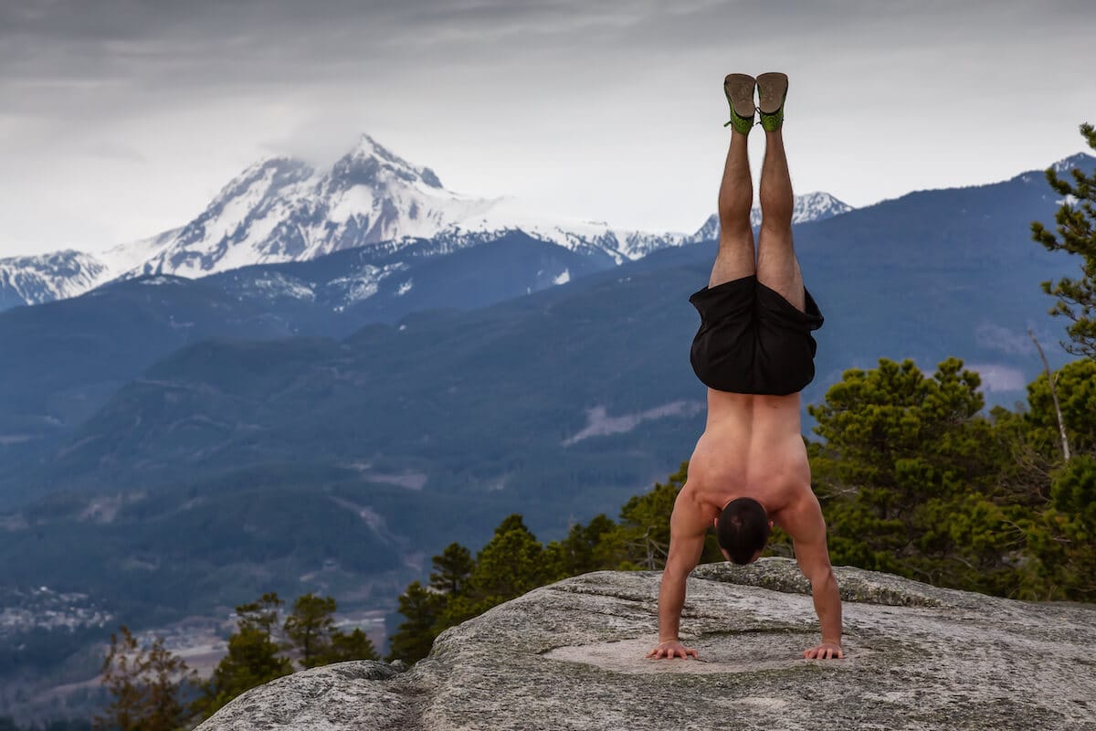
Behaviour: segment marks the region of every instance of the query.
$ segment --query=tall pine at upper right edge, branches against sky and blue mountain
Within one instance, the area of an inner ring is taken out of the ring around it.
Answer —
[[[1081,125],[1081,135],[1096,150],[1096,129],[1091,124]],[[1086,175],[1074,169],[1071,176],[1072,182],[1059,178],[1053,168],[1047,170],[1047,182],[1065,196],[1054,214],[1058,236],[1039,221],[1031,224],[1031,236],[1048,251],[1081,256],[1080,278],[1043,282],[1042,290],[1058,298],[1050,313],[1072,321],[1066,327],[1071,342],[1063,342],[1062,346],[1073,355],[1096,359],[1096,174]]]

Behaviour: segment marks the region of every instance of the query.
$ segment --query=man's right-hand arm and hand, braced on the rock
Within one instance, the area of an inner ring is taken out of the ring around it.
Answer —
[[[794,525],[787,526],[796,547],[799,569],[811,582],[814,612],[822,625],[822,643],[803,651],[809,659],[829,660],[844,658],[841,649],[841,594],[837,580],[830,566],[830,551],[825,544],[825,519],[814,493],[804,496],[797,510]]]

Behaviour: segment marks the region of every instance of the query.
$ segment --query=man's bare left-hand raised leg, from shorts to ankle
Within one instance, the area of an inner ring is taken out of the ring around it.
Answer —
[[[756,271],[750,208],[753,206],[753,180],[746,136],[731,133],[723,181],[719,185],[719,253],[711,267],[709,287],[741,279]]]

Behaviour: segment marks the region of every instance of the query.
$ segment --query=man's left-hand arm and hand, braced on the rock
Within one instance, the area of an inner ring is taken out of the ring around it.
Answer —
[[[685,580],[700,560],[707,530],[704,512],[692,495],[686,486],[674,501],[670,517],[670,555],[659,590],[659,646],[647,653],[648,658],[697,656],[696,650],[683,646],[677,635],[685,605]]]

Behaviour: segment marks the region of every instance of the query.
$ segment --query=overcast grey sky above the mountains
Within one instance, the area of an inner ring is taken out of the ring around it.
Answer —
[[[732,71],[789,75],[799,193],[1004,180],[1085,149],[1094,32],[1091,0],[0,0],[0,256],[151,236],[361,133],[460,193],[693,231]]]

